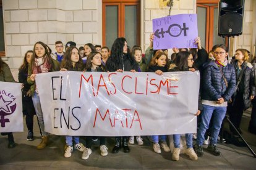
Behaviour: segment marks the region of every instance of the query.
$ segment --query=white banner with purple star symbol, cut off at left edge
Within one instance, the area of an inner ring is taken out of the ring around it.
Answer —
[[[0,82],[0,132],[23,132],[22,92],[19,83]]]

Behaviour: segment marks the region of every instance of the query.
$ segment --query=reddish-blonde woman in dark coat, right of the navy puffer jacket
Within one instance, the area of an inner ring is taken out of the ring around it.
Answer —
[[[237,89],[232,97],[233,103],[228,105],[228,113],[231,122],[240,134],[242,134],[240,129],[242,113],[250,107],[251,100],[255,96],[254,69],[248,60],[249,55],[246,49],[236,50],[233,65],[236,71]],[[229,129],[236,137],[237,132],[235,129],[232,126],[229,126]]]

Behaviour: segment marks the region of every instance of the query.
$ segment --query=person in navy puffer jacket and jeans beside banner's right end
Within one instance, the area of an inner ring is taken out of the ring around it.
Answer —
[[[205,132],[211,126],[210,144],[208,152],[220,156],[221,152],[216,147],[221,124],[226,115],[228,101],[236,90],[236,72],[233,65],[228,63],[228,51],[223,44],[216,46],[215,59],[211,60],[203,70],[201,123],[197,132],[197,142],[194,145],[197,156],[203,156],[203,141]]]

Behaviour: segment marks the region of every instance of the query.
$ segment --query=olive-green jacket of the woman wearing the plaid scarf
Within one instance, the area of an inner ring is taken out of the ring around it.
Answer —
[[[53,71],[59,71],[60,67],[59,67],[59,62],[57,60],[51,59],[51,70],[49,72],[53,72]],[[32,81],[30,79],[30,76],[32,75],[32,63],[30,63],[28,65],[28,84],[33,84],[32,86],[30,86],[30,91],[32,92],[32,95],[34,95],[35,93],[35,81]]]

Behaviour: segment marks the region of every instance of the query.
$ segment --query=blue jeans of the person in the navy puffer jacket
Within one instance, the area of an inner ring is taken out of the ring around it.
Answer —
[[[203,145],[203,140],[205,140],[205,132],[208,129],[211,116],[212,126],[211,126],[211,136],[210,136],[210,144],[216,145],[218,140],[218,135],[220,133],[221,124],[226,115],[227,107],[212,107],[209,105],[203,105],[203,111],[201,113],[202,121],[200,123],[198,132],[197,132],[197,144]]]

